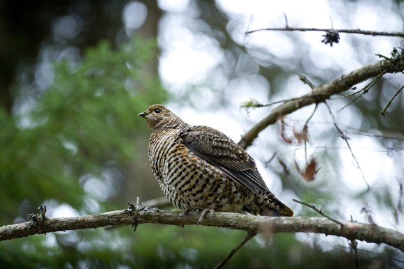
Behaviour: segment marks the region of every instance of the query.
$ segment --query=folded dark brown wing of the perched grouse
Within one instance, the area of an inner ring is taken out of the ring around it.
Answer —
[[[207,126],[192,126],[180,134],[190,151],[256,194],[269,192],[256,163],[233,140]]]

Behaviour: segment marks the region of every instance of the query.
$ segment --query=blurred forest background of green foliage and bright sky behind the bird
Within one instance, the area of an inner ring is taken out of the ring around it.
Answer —
[[[371,36],[341,35],[341,43],[329,47],[318,33],[244,35],[284,26],[283,13],[290,26],[330,28],[331,15],[335,29],[403,31],[401,1],[265,2],[1,1],[1,224],[25,221],[42,203],[55,217],[161,197],[148,164],[150,130],[137,118],[150,104],[164,102],[185,121],[210,125],[238,141],[270,111],[246,112],[242,103],[297,97],[309,89],[295,73],[321,84],[401,45],[399,38]],[[323,107],[309,124],[308,155],[321,167],[315,180],[305,182],[295,169],[295,163],[306,162],[304,147],[285,143],[279,125],[249,148],[270,189],[297,215],[313,213],[293,204],[295,197],[323,206],[333,217],[352,216],[403,232],[404,99],[394,100],[386,118],[379,114],[401,84],[402,75],[384,76],[341,112],[352,99],[330,103],[370,189]],[[285,135],[293,137],[312,110],[287,116]],[[274,153],[281,161],[267,163]],[[203,226],[69,231],[1,242],[0,264],[212,268],[243,236]],[[359,243],[362,268],[395,268],[403,261],[395,249]],[[346,240],[311,234],[258,237],[228,263],[228,268],[343,266],[355,266]]]

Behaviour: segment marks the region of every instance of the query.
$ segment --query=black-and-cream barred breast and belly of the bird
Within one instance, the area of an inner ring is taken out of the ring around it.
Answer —
[[[162,192],[181,209],[207,206],[217,197],[227,197],[230,182],[216,167],[195,155],[174,132],[152,134],[150,164]]]

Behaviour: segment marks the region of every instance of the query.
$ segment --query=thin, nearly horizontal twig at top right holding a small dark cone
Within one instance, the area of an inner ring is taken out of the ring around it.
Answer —
[[[365,31],[361,29],[317,29],[317,28],[302,28],[302,27],[281,27],[281,28],[265,28],[265,29],[256,29],[252,31],[245,32],[246,35],[250,33],[255,33],[258,31],[318,31],[318,32],[327,32],[327,31],[338,31],[339,33],[358,33],[366,36],[399,36],[404,38],[404,33],[402,32],[380,32],[380,31]]]

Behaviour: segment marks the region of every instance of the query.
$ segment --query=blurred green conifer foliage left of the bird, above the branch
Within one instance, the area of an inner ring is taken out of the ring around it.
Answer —
[[[13,222],[22,201],[38,206],[52,199],[81,209],[84,175],[133,161],[134,135],[148,137],[134,118],[165,98],[157,79],[142,70],[150,47],[137,40],[114,50],[102,42],[80,63],[54,63],[54,81],[30,112],[0,112],[1,223]]]

